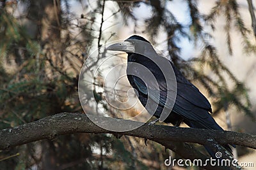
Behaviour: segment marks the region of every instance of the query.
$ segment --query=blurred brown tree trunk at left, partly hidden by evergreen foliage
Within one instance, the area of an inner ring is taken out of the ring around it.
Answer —
[[[60,46],[58,46],[61,40],[60,0],[30,1],[28,18],[33,23],[32,26],[36,27],[34,37],[36,41],[40,42],[41,50],[45,53],[45,57],[49,57],[56,63],[59,60],[60,55],[58,53],[61,50]],[[40,61],[38,60],[38,62]],[[53,105],[49,113],[57,113],[58,109],[56,108],[60,108],[57,100]],[[56,160],[55,147],[52,141],[42,141],[42,168],[56,169]]]

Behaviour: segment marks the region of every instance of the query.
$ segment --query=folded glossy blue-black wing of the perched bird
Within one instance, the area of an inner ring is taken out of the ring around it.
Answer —
[[[140,92],[148,95],[150,99],[158,103],[160,106],[165,106],[171,109],[172,104],[166,103],[166,80],[159,69],[150,66],[152,66],[152,64],[148,64],[147,67],[157,78],[157,82],[148,81],[146,85],[137,76],[132,76],[134,85],[136,85],[137,89],[140,90]],[[200,124],[200,126],[202,126],[201,128],[221,129],[221,127],[216,124],[214,119],[208,113],[208,111],[211,112],[211,104],[209,103],[209,101],[195,87],[195,85],[186,80],[186,78],[184,78],[184,76],[174,66],[173,70],[175,71],[177,80],[177,96],[175,99],[175,105],[172,108],[173,111],[179,115],[182,115],[184,118],[191,120],[192,122],[197,122],[198,124]],[[143,77],[143,75],[140,76]],[[169,100],[172,101],[172,97]]]

